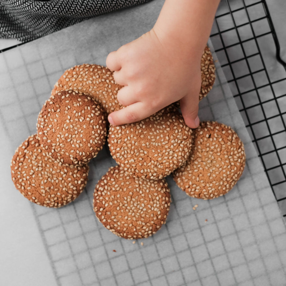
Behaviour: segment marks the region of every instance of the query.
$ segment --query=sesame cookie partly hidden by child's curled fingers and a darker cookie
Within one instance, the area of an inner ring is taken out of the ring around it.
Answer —
[[[113,72],[107,67],[82,64],[63,73],[56,82],[52,95],[61,90],[76,90],[89,95],[109,114],[122,107],[117,101],[117,92],[121,87],[114,81]]]

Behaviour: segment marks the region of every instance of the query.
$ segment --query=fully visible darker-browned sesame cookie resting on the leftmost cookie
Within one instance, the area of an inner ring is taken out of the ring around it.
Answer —
[[[107,134],[100,106],[73,90],[59,91],[45,102],[37,130],[47,154],[67,166],[88,163],[102,149]]]

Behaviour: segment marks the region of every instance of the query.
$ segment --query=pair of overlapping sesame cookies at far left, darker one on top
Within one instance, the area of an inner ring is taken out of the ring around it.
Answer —
[[[51,95],[39,113],[37,134],[12,158],[15,187],[38,205],[67,205],[83,191],[87,163],[103,148],[106,133],[106,115],[89,96],[73,90]]]

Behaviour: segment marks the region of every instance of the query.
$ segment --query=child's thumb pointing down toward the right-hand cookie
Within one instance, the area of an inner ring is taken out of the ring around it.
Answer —
[[[197,128],[200,124],[198,117],[199,95],[188,93],[180,100],[180,108],[185,123],[190,128]]]

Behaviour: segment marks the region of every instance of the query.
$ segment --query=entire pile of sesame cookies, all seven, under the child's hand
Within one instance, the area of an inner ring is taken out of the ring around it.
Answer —
[[[214,71],[206,47],[200,100],[214,84]],[[108,133],[118,166],[109,168],[95,187],[95,214],[120,237],[147,238],[167,219],[171,200],[164,177],[173,174],[189,196],[212,199],[237,182],[245,154],[230,127],[202,122],[192,130],[176,103],[107,132],[106,115],[122,108],[116,96],[121,87],[106,67],[83,64],[65,71],[39,113],[37,134],[12,158],[12,179],[38,205],[66,205],[84,189],[87,163],[103,148]]]

